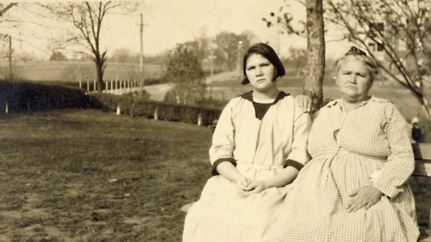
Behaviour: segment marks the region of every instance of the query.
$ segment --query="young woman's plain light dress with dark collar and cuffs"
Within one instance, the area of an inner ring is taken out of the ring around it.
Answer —
[[[300,111],[294,98],[280,92],[259,120],[251,93],[248,98],[246,94],[230,100],[222,111],[209,150],[211,164],[236,163],[251,180],[270,178],[289,162],[302,167],[309,160],[305,148],[309,115]],[[243,198],[229,180],[211,177],[187,212],[183,242],[262,241],[275,222],[287,186]]]

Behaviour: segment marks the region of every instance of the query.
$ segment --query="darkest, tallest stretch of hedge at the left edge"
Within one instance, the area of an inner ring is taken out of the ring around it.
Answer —
[[[94,106],[78,88],[31,82],[0,81],[0,112],[23,112]],[[97,106],[97,105],[96,105]]]

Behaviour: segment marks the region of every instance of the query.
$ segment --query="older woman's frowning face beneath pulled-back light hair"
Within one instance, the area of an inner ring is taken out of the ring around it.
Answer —
[[[345,59],[336,74],[341,97],[349,102],[361,102],[368,98],[371,74],[366,63],[358,59]]]

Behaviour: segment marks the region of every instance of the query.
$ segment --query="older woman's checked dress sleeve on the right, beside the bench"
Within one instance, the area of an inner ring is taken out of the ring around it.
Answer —
[[[387,197],[394,198],[413,173],[414,156],[408,123],[391,103],[386,106],[385,119],[382,128],[389,142],[390,155],[373,186]]]

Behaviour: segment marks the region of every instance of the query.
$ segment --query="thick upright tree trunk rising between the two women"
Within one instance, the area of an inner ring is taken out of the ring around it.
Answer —
[[[325,62],[324,23],[322,0],[306,0],[307,62],[303,91],[312,99],[312,111],[323,103],[323,75]]]

